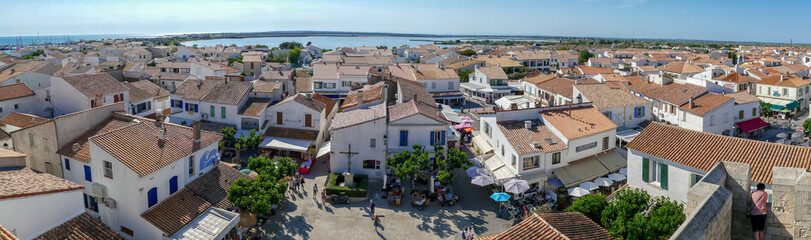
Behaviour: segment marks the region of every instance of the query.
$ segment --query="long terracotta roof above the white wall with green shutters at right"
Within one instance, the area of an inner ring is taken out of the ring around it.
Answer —
[[[710,171],[720,161],[746,163],[752,167],[752,180],[770,184],[774,167],[811,170],[811,147],[791,146],[728,137],[651,123],[628,148]]]

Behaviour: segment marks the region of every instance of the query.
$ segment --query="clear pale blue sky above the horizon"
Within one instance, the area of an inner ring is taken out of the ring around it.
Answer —
[[[317,30],[811,43],[804,0],[0,2],[0,36]]]

